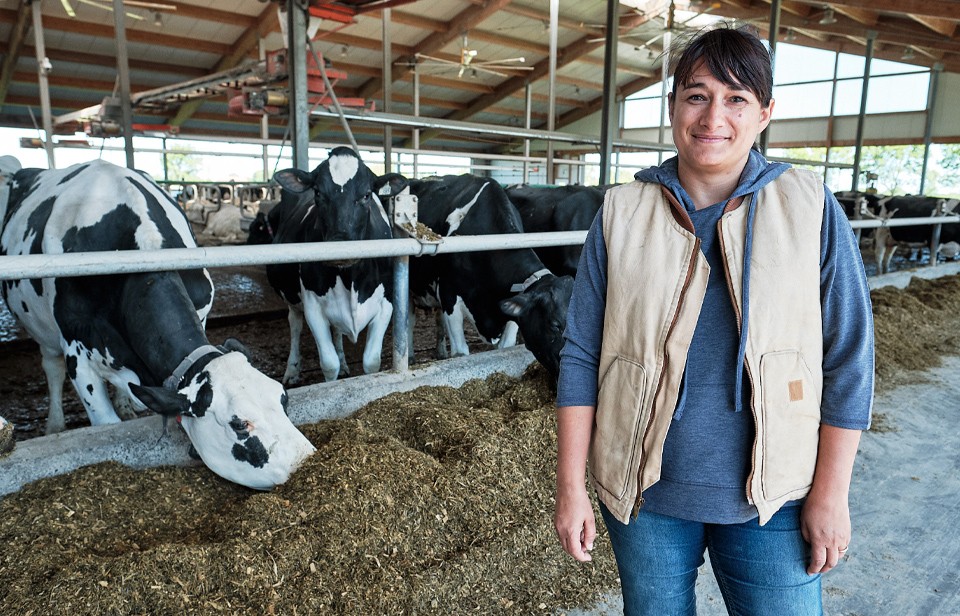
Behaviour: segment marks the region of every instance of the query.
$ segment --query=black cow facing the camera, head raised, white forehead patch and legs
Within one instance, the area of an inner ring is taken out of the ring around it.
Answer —
[[[393,237],[380,196],[396,194],[406,179],[378,178],[350,148],[338,147],[313,170],[278,171],[283,187],[270,212],[273,243],[380,240]],[[378,194],[379,193],[379,194]],[[271,286],[287,302],[290,355],[284,383],[300,379],[300,334],[306,318],[324,379],[349,374],[342,337],[356,342],[366,330],[363,371],[380,370],[383,337],[393,316],[393,264],[389,258],[267,266]]]

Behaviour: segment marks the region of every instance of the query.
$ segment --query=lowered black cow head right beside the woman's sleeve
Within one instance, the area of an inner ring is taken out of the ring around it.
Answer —
[[[560,375],[560,349],[572,293],[572,276],[551,274],[500,302],[503,313],[520,327],[524,346],[547,369],[554,382]]]

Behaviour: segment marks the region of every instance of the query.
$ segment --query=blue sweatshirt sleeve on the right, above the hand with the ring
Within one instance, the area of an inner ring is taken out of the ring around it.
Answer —
[[[820,245],[823,318],[821,422],[870,427],[874,388],[874,330],[870,289],[856,235],[829,190],[824,190]]]

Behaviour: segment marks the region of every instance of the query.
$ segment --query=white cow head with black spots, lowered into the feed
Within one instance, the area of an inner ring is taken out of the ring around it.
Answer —
[[[188,370],[174,389],[130,384],[149,408],[177,417],[194,449],[216,474],[268,490],[284,483],[313,445],[286,415],[287,393],[239,352]]]

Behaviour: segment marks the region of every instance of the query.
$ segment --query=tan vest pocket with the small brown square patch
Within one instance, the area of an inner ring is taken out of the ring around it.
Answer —
[[[776,500],[809,488],[820,438],[820,390],[799,351],[760,359],[763,395],[761,481],[763,496]]]

